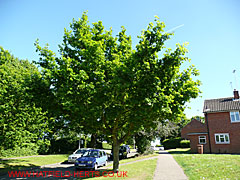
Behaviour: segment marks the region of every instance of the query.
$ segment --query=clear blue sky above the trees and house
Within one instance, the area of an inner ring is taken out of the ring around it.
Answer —
[[[115,34],[124,26],[133,45],[155,15],[165,22],[165,30],[183,25],[166,45],[189,42],[188,57],[200,71],[202,94],[189,104],[187,117],[203,115],[204,99],[230,97],[233,88],[240,88],[238,0],[0,0],[0,46],[21,59],[37,60],[34,42],[39,38],[57,52],[64,28],[84,11],[90,22],[100,20]]]

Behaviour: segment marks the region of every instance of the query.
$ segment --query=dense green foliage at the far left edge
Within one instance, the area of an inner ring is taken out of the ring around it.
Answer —
[[[33,64],[14,58],[3,48],[0,62],[0,150],[35,154],[48,144],[44,139],[48,118],[31,93],[41,74]]]

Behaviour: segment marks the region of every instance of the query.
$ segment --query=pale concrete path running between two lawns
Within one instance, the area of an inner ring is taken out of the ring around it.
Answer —
[[[187,180],[182,168],[166,151],[160,151],[153,180]]]

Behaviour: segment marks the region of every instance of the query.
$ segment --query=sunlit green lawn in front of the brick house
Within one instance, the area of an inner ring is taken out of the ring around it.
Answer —
[[[240,155],[189,154],[187,149],[168,150],[190,180],[240,179]]]

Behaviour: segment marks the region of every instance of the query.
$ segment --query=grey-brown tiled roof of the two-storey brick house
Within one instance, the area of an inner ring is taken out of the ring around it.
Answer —
[[[222,112],[240,110],[240,99],[233,99],[233,97],[208,99],[204,101],[203,112]]]

